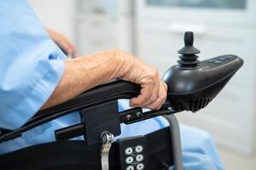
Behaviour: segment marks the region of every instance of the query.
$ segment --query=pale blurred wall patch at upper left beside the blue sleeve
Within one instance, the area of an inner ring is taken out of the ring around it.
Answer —
[[[38,17],[55,31],[65,34],[74,41],[74,8],[75,0],[28,0]]]

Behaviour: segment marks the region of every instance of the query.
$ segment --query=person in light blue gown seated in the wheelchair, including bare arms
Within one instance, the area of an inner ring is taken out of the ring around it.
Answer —
[[[66,54],[75,54],[73,45],[61,34],[45,30],[25,0],[2,0],[0,23],[1,128],[18,128],[39,110],[61,104],[115,78],[142,87],[141,93],[130,100],[130,106],[157,110],[166,100],[166,83],[161,80],[158,71],[132,54],[106,50],[67,59]],[[35,127],[20,138],[0,144],[0,153],[53,140],[53,134],[49,133],[51,130],[78,121],[78,113],[73,113]],[[136,131],[149,133],[166,124],[161,118],[155,118],[136,123],[131,128],[123,126],[122,135]],[[215,150],[214,147],[208,149]],[[209,150],[201,150],[201,155],[196,157],[205,156],[203,163],[209,164],[211,169],[220,169],[218,157],[207,157],[207,153],[211,152]],[[187,158],[184,156],[184,161]],[[201,161],[196,162],[196,166],[200,167],[198,162]]]

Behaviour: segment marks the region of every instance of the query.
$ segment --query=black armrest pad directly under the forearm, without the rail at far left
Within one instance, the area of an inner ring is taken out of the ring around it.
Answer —
[[[114,99],[131,99],[140,94],[140,89],[139,85],[132,82],[122,80],[108,82],[97,86],[96,88],[92,88],[89,91],[84,92],[84,94],[80,94],[74,99],[70,99],[61,105],[55,105],[49,109],[39,111],[29,122],[34,122],[56,112],[78,111],[81,108],[102,104],[103,102]]]

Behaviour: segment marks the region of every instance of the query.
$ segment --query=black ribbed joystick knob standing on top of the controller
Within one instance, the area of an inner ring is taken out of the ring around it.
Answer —
[[[192,31],[186,31],[184,34],[184,44],[185,46],[177,51],[178,54],[182,54],[179,56],[179,60],[177,63],[182,67],[194,67],[198,63],[200,63],[198,56],[195,54],[199,54],[200,51],[193,46],[194,42],[194,34]]]

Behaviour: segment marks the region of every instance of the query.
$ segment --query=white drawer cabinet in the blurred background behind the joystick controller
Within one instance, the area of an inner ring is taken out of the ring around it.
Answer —
[[[247,5],[244,10],[164,8],[137,1],[137,54],[160,73],[177,63],[183,31],[195,32],[200,60],[222,54],[244,59],[241,70],[207,108],[177,114],[179,122],[207,130],[218,144],[242,155],[256,152],[256,1],[247,0]]]

